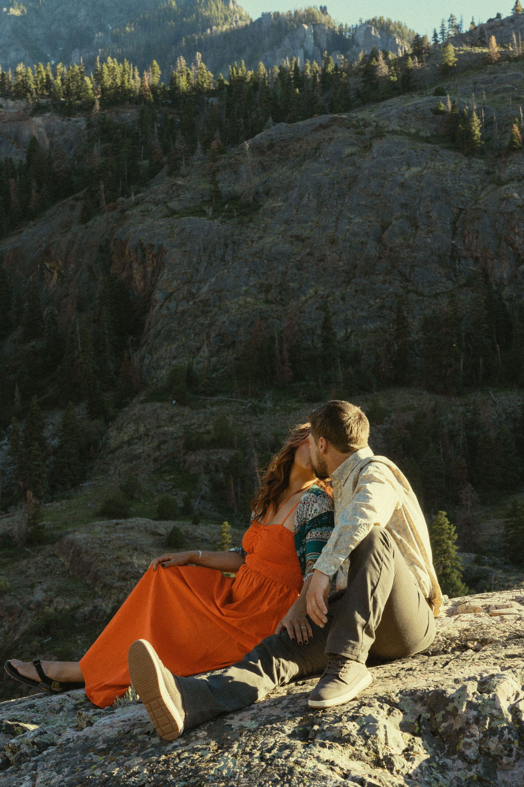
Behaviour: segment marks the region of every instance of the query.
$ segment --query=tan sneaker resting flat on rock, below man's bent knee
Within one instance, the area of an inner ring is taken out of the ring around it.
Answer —
[[[353,700],[372,682],[365,664],[344,656],[331,656],[320,681],[310,693],[310,708],[331,708]]]

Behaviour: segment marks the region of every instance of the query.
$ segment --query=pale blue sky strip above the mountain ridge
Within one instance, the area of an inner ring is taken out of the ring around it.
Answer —
[[[500,11],[508,17],[515,0],[443,0],[443,2],[424,2],[424,0],[323,0],[323,2],[289,2],[289,0],[237,0],[253,19],[263,11],[289,11],[304,6],[328,6],[328,13],[343,24],[356,24],[360,17],[390,17],[405,22],[410,28],[423,35],[431,35],[433,28],[438,28],[442,17],[446,20],[450,13],[460,19],[464,17],[464,25],[475,21],[485,22]]]

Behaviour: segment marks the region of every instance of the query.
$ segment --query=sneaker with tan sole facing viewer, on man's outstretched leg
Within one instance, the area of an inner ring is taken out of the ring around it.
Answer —
[[[177,679],[156,655],[147,640],[137,640],[127,656],[131,682],[148,711],[156,732],[174,741],[184,730],[184,700]]]

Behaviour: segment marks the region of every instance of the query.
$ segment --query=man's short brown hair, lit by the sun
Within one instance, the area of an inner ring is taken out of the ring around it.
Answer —
[[[314,441],[328,440],[340,453],[350,453],[368,445],[369,421],[360,407],[349,401],[332,399],[311,413]]]

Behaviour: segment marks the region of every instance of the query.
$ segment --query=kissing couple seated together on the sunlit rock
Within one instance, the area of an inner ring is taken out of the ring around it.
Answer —
[[[79,663],[5,669],[48,693],[85,685],[101,708],[132,682],[167,741],[311,674],[311,707],[353,699],[368,660],[431,644],[442,604],[420,505],[368,434],[328,401],[269,464],[241,548],[156,558]]]

